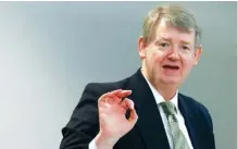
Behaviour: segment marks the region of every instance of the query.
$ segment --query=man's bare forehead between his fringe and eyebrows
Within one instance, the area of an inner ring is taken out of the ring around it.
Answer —
[[[161,20],[155,29],[155,39],[170,38],[172,40],[187,41],[195,44],[195,29],[185,30],[170,25],[165,20]]]

